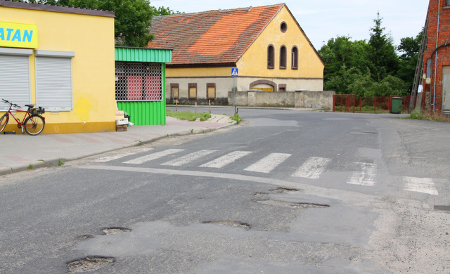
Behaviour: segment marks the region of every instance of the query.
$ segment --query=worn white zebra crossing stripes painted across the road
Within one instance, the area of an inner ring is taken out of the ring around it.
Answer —
[[[94,159],[93,162],[106,163],[121,158],[130,157],[138,153],[149,152],[146,153],[146,155],[123,161],[122,164],[144,164],[146,162],[162,159],[163,162],[162,164],[160,164],[161,166],[182,167],[186,164],[193,164],[196,161],[201,162],[201,159],[203,157],[219,152],[219,150],[198,150],[196,152],[182,155],[185,150],[179,148],[171,148],[158,152],[151,152],[151,150],[153,150],[153,148],[143,148],[139,150],[135,149],[115,155],[100,157],[98,159]],[[198,165],[198,167],[222,169],[227,165],[243,159],[244,157],[252,153],[253,152],[246,150],[235,150],[227,153],[226,155],[221,155],[215,159],[212,159],[209,162],[200,164]],[[176,157],[164,162],[163,159],[165,157],[171,156]],[[262,157],[257,162],[249,164],[247,167],[243,168],[243,170],[260,174],[269,174],[271,171],[274,171],[274,169],[281,166],[281,164],[283,164],[283,162],[285,162],[285,160],[287,160],[291,156],[292,155],[289,153],[269,153],[269,155]],[[309,157],[290,176],[297,178],[319,179],[321,174],[326,171],[331,162],[332,159],[330,158]],[[352,171],[352,175],[347,178],[347,184],[364,186],[375,185],[377,164],[369,162],[353,162],[352,164],[354,165],[354,171]],[[402,177],[402,180],[404,184],[404,190],[406,191],[425,193],[429,195],[439,195],[432,178],[416,178],[405,176]]]

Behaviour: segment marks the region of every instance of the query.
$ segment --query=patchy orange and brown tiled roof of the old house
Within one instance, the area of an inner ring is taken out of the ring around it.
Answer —
[[[236,63],[284,4],[158,16],[152,48],[172,48],[172,63]]]

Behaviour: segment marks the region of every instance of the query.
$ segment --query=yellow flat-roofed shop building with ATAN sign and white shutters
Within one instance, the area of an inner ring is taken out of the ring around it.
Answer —
[[[115,131],[114,43],[113,12],[0,0],[0,99],[44,107],[43,133]]]

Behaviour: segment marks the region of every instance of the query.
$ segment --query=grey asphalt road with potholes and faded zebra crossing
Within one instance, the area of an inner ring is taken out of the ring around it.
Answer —
[[[239,115],[2,176],[0,273],[449,272],[450,124]]]

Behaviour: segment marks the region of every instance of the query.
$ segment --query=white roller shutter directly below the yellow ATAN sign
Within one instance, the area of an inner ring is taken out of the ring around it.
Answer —
[[[31,103],[30,93],[30,56],[0,51],[0,110],[8,107],[1,98],[23,107]]]

